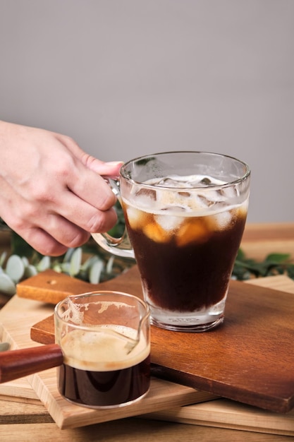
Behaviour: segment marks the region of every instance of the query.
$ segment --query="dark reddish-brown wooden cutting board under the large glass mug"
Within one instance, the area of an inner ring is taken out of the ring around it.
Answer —
[[[18,285],[18,296],[56,303],[68,294],[113,289],[142,297],[135,266],[100,285],[44,272]],[[294,407],[294,296],[231,281],[223,325],[207,333],[152,326],[154,374],[224,398],[275,412]],[[31,338],[54,342],[53,316],[32,326]]]

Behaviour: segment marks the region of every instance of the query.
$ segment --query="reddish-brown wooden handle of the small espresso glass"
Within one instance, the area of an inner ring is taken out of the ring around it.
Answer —
[[[62,362],[63,354],[58,344],[0,352],[0,383],[51,369]]]

